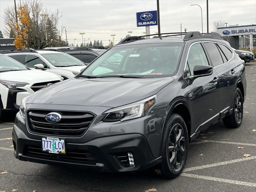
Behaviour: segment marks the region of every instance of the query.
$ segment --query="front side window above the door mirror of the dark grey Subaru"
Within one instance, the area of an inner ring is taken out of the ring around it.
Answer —
[[[204,49],[200,43],[190,47],[185,68],[186,76],[194,75],[193,70],[196,65],[209,65]]]

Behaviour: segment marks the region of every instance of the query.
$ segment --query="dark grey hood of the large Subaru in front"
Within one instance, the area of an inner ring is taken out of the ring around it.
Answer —
[[[33,104],[117,107],[152,96],[174,78],[72,78],[31,96]]]

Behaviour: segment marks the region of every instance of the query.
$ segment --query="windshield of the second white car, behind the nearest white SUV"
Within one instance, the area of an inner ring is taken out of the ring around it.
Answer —
[[[81,66],[86,65],[79,59],[66,53],[43,53],[41,54],[48,62],[56,67]]]

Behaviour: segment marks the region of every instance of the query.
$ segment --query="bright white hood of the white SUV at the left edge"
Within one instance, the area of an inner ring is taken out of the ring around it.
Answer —
[[[16,82],[34,82],[42,80],[43,82],[60,80],[60,76],[54,73],[39,71],[39,70],[22,70],[22,71],[10,71],[1,72],[0,79],[6,81],[16,81]]]

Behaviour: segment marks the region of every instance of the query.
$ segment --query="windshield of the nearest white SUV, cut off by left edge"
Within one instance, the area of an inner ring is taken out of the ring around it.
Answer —
[[[26,68],[20,62],[8,56],[0,55],[0,72],[20,71],[20,70],[28,70],[28,68]]]

